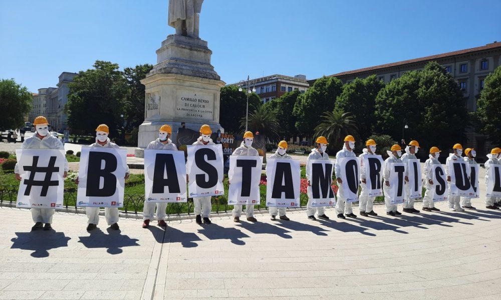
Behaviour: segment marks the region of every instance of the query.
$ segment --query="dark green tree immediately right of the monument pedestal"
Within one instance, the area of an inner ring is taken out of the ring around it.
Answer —
[[[256,93],[249,94],[249,113],[259,106],[261,98]],[[219,102],[219,123],[224,131],[237,133],[240,130],[240,119],[245,118],[247,95],[245,89],[238,91],[238,86],[227,85],[221,88]],[[244,127],[245,128],[245,127]]]

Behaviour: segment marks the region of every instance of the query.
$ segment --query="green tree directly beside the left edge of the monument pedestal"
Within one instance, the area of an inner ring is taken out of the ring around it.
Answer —
[[[123,101],[125,128],[130,131],[139,127],[144,121],[144,84],[141,79],[153,68],[153,65],[138,64],[135,67],[124,68],[124,77],[127,83],[127,92]]]

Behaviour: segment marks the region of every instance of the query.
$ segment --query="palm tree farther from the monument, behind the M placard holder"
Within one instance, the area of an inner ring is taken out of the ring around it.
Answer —
[[[315,135],[323,135],[331,143],[337,142],[345,135],[357,134],[355,116],[351,112],[343,110],[326,111],[322,116],[323,120],[315,127]]]

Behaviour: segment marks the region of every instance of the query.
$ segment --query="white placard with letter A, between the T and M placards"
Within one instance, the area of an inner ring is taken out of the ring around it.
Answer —
[[[270,158],[266,165],[266,206],[299,207],[299,160]]]

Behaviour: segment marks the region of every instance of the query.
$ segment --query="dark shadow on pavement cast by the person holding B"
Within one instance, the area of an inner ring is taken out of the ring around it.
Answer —
[[[120,254],[123,247],[139,246],[137,238],[130,238],[128,235],[120,234],[120,230],[107,228],[105,234],[99,227],[90,231],[89,236],[79,236],[81,242],[87,248],[106,248],[110,254]]]

